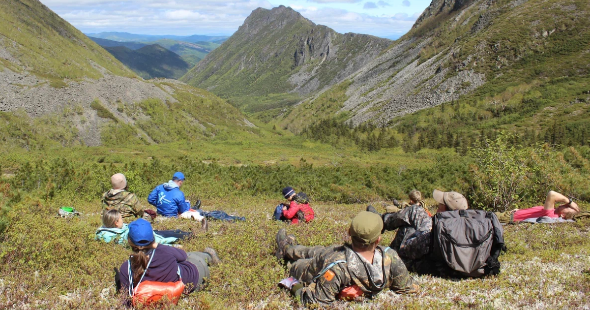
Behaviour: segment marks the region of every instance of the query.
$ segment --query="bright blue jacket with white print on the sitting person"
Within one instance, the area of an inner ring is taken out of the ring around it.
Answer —
[[[178,214],[191,209],[184,193],[172,180],[156,186],[148,196],[148,203],[158,209],[158,214],[165,217],[178,217]]]

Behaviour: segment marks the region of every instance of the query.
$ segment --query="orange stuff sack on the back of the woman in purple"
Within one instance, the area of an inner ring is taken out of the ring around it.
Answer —
[[[143,281],[133,290],[131,304],[133,306],[149,305],[166,296],[168,301],[176,305],[184,289],[185,285],[182,283],[182,279],[176,282]]]

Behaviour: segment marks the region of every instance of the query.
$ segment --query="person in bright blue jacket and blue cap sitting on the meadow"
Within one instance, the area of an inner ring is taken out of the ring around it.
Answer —
[[[158,214],[165,217],[193,218],[202,221],[202,214],[196,209],[191,209],[191,202],[186,200],[184,193],[181,191],[182,184],[185,181],[182,172],[176,172],[172,180],[158,185],[148,196],[148,203],[156,207]],[[198,201],[196,208],[201,205]]]

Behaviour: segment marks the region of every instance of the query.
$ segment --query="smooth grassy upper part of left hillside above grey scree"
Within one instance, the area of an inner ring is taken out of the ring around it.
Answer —
[[[0,68],[50,80],[97,79],[94,63],[118,76],[135,76],[107,51],[37,0],[0,1]],[[14,61],[14,60],[17,61]]]

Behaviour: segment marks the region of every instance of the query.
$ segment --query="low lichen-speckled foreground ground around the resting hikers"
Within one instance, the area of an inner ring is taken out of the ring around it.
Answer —
[[[100,203],[35,200],[12,210],[12,223],[0,244],[0,309],[123,308],[114,292],[113,267],[130,250],[94,241]],[[316,220],[298,227],[270,219],[277,201],[204,201],[205,210],[225,210],[247,217],[241,223],[212,222],[204,233],[189,220],[163,220],[156,229],[198,231],[183,243],[187,251],[211,246],[221,265],[211,269],[202,292],[186,296],[174,309],[296,309],[277,288],[287,270],[273,256],[280,227],[301,244],[335,244],[346,238],[350,219],[365,205],[313,204]],[[73,220],[55,217],[59,205],[84,213]],[[383,292],[364,303],[340,302],[334,309],[588,309],[590,305],[590,221],[573,224],[517,224],[505,227],[509,252],[501,256],[501,275],[486,279],[416,276],[414,295]],[[391,242],[394,232],[385,234]]]

